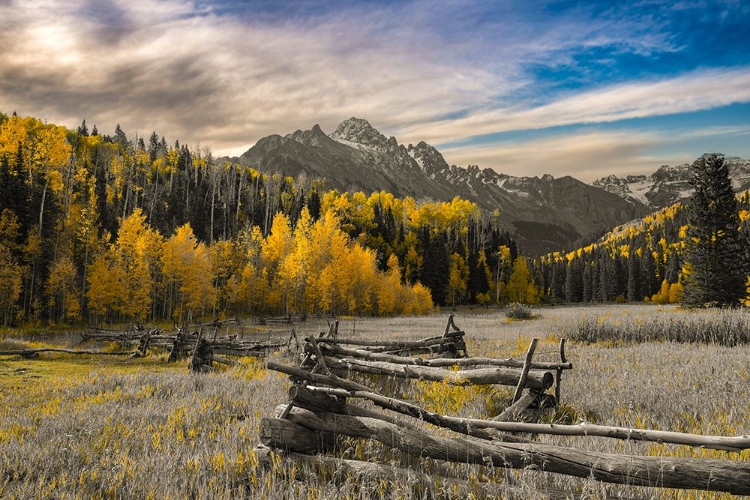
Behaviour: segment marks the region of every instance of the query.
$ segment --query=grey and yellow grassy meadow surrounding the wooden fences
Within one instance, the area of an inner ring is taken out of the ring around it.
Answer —
[[[566,352],[574,369],[565,372],[561,405],[545,416],[546,421],[750,434],[747,330],[742,336],[748,312],[606,305],[541,308],[534,314],[533,320],[509,321],[502,311],[475,309],[459,311],[455,321],[466,332],[472,356],[521,358],[530,339],[537,337],[535,359],[557,361],[559,339],[571,339]],[[727,314],[731,319],[721,316]],[[415,340],[441,334],[446,319],[447,313],[342,318],[339,332],[347,337]],[[736,331],[726,334],[731,342],[721,341],[721,328],[704,337],[656,334],[670,324],[680,325],[683,333],[691,328],[703,331],[708,324]],[[327,325],[308,321],[296,328],[301,338],[327,330]],[[628,333],[634,329],[651,333]],[[271,334],[257,332],[264,338]],[[288,336],[288,329],[278,334]],[[75,337],[29,339],[16,331],[0,335],[0,350],[70,345]],[[276,352],[270,358],[294,363],[290,353]],[[263,360],[253,358],[214,373],[191,375],[186,361],[168,364],[166,353],[158,352],[140,359],[0,356],[0,498],[549,498],[566,492],[571,498],[730,498],[604,485],[538,470],[445,465],[348,439],[331,456],[408,465],[431,477],[460,481],[425,487],[417,473],[363,477],[331,470],[322,461],[310,467],[278,455],[261,463],[255,452],[260,420],[273,416],[275,407],[287,400],[289,385],[285,376],[266,370]],[[509,397],[506,389],[432,382],[408,382],[399,390],[431,410],[477,418],[493,416]],[[608,453],[750,461],[750,451],[738,454],[595,437],[535,439]],[[487,482],[491,486],[485,486]]]

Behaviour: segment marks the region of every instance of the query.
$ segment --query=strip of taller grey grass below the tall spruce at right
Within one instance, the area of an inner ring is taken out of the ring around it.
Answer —
[[[750,343],[750,311],[714,309],[675,311],[669,315],[613,316],[587,314],[564,332],[584,343],[700,343],[734,347]]]

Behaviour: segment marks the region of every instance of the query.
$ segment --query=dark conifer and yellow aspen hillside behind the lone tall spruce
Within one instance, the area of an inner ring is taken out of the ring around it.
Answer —
[[[739,197],[738,211],[744,253],[736,258],[750,262],[750,192]],[[535,279],[557,302],[681,302],[691,272],[688,222],[688,206],[672,205],[584,247],[536,259]]]

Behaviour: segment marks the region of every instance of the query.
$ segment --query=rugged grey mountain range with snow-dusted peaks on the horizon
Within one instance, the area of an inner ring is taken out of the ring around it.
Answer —
[[[342,122],[331,134],[315,125],[265,137],[234,160],[267,174],[321,179],[341,191],[385,190],[433,201],[460,196],[499,210],[499,223],[526,255],[569,247],[685,194],[682,184],[666,180],[672,179],[672,167],[662,167],[651,177],[610,176],[589,185],[570,176],[513,177],[476,165],[448,165],[429,144],[404,146],[359,118]],[[743,163],[747,172],[749,163]],[[682,175],[682,166],[676,168]],[[750,174],[745,179],[747,183]]]

